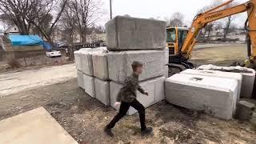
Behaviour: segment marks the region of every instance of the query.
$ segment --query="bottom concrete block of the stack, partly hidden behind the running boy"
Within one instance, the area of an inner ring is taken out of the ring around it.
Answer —
[[[138,102],[141,102],[143,106],[148,107],[153,105],[156,102],[160,102],[163,99],[165,99],[165,94],[164,94],[164,80],[165,77],[158,77],[158,78],[153,78],[144,82],[140,82],[140,86],[146,92],[149,93],[148,96],[141,94],[139,91],[137,91],[137,99]],[[117,94],[119,90],[122,88],[122,84],[119,84],[117,82],[110,82],[110,103],[111,106],[114,106],[114,102],[116,102],[117,99]],[[133,107],[130,107],[127,114],[131,115],[136,113],[137,110],[135,110]]]

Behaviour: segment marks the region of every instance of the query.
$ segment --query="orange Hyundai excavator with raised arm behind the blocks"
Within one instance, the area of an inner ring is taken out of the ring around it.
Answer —
[[[245,22],[247,58],[242,66],[256,68],[256,0],[227,7],[231,2],[234,2],[234,0],[224,2],[202,14],[197,14],[190,28],[178,26],[166,28],[166,46],[169,48],[169,72],[177,73],[178,71],[194,68],[194,64],[189,61],[191,52],[200,31],[207,23],[243,12],[247,12],[248,17]]]

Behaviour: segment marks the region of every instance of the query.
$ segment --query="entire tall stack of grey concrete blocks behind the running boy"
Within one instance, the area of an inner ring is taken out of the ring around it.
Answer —
[[[124,79],[132,74],[131,63],[143,63],[140,85],[149,96],[138,92],[138,101],[147,107],[165,98],[164,80],[168,75],[166,22],[118,16],[106,23],[107,50],[76,51],[79,86],[106,106],[116,102]],[[109,50],[109,51],[108,51]],[[77,62],[78,61],[78,62]],[[130,108],[127,114],[134,114]]]

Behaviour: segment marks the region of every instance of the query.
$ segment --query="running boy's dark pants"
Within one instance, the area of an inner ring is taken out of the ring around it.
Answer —
[[[135,110],[138,110],[139,120],[141,122],[141,130],[145,130],[146,129],[145,107],[142,106],[142,104],[140,102],[138,102],[136,99],[134,99],[133,102],[121,102],[121,106],[120,106],[118,114],[112,119],[110,124],[108,124],[106,127],[108,129],[113,128],[115,123],[117,123],[123,116],[126,115],[130,106],[133,106]]]

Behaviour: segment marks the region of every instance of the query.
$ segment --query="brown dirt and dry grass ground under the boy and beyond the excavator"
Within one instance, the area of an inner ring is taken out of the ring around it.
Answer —
[[[242,60],[244,46],[195,50],[193,61],[228,65]],[[226,54],[223,54],[223,53]],[[226,57],[225,60],[222,57]],[[0,74],[1,76],[2,74]],[[251,143],[256,142],[256,130],[248,122],[224,121],[193,110],[159,102],[146,109],[146,123],[154,127],[154,135],[141,137],[138,114],[127,116],[114,128],[114,138],[102,129],[116,114],[90,98],[77,85],[76,78],[48,86],[30,87],[0,98],[0,120],[36,107],[46,110],[79,143]]]

